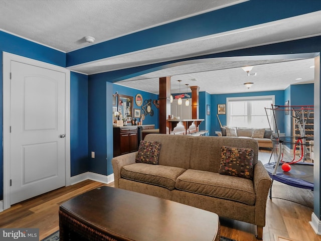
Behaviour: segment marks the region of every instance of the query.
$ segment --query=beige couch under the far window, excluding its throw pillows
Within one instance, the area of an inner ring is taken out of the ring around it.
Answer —
[[[240,128],[240,127],[221,127],[221,133],[218,133],[219,137],[225,137],[228,136],[226,134],[226,128],[233,128],[236,131],[235,137],[241,137],[241,138],[253,138],[253,131],[254,130],[260,130],[260,129],[254,129],[254,128]],[[272,140],[271,140],[272,131],[270,129],[265,129],[262,137],[254,137],[253,139],[256,140],[259,144],[259,147],[263,148],[273,148]]]

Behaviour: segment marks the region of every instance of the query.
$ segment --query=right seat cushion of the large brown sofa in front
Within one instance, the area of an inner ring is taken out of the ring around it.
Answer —
[[[218,173],[188,169],[176,181],[177,189],[211,197],[255,204],[253,181]]]

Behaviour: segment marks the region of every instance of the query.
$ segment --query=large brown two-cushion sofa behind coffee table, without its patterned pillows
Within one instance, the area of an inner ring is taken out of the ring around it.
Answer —
[[[169,199],[257,225],[262,239],[271,179],[253,139],[149,134],[161,142],[158,165],[135,163],[137,152],[112,159],[115,187]],[[253,179],[219,174],[221,147],[253,149]]]

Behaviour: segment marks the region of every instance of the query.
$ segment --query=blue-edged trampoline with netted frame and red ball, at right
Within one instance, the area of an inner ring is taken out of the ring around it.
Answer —
[[[271,140],[273,143],[273,151],[270,156],[270,160],[267,164],[264,165],[265,169],[267,170],[269,176],[272,179],[272,184],[270,188],[269,197],[272,198],[272,185],[273,181],[279,181],[284,184],[313,190],[313,163],[305,163],[305,155],[307,152],[307,144],[306,136],[305,136],[305,124],[310,115],[311,111],[313,110],[312,105],[271,105],[272,113],[273,113],[273,121],[275,125],[275,133],[272,134]],[[266,111],[266,110],[265,110]],[[294,118],[295,123],[299,127],[300,136],[297,137],[297,141],[293,142],[294,137],[281,137],[278,126],[277,126],[277,119],[280,118],[276,114],[278,113],[289,114],[290,112],[293,113],[291,115]],[[288,111],[288,112],[286,112]],[[304,115],[305,114],[305,115]],[[270,123],[270,122],[269,122]],[[283,160],[283,151],[284,145],[293,147],[293,159],[290,161]],[[299,147],[299,156],[296,157],[296,147]],[[270,162],[271,157],[274,154],[275,162]],[[284,165],[284,167],[283,167]]]

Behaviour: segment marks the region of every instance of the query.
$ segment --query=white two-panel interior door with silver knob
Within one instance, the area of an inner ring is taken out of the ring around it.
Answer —
[[[66,73],[11,61],[10,203],[65,186]]]

